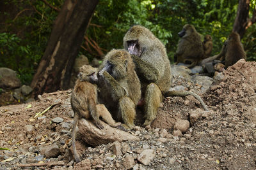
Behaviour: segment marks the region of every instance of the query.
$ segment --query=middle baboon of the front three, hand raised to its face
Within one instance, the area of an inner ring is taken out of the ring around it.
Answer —
[[[111,50],[98,73],[99,101],[127,129],[134,127],[136,105],[141,97],[140,80],[131,55],[125,50]]]

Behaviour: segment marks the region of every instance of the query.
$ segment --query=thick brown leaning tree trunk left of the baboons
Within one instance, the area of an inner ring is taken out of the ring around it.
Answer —
[[[66,0],[31,81],[34,95],[66,90],[71,70],[98,0]]]

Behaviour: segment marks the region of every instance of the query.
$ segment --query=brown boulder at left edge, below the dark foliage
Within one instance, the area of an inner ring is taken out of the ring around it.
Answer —
[[[0,88],[15,89],[21,86],[21,81],[12,69],[0,67]]]

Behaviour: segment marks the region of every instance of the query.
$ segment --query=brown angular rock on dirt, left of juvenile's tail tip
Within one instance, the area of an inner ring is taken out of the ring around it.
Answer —
[[[58,145],[53,144],[49,146],[42,146],[40,148],[41,155],[44,155],[46,158],[58,158],[61,151]]]

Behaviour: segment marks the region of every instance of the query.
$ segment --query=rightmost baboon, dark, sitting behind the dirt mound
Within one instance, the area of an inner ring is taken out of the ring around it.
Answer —
[[[202,60],[202,64],[212,62],[216,59],[225,61],[225,69],[235,64],[237,60],[246,59],[246,53],[244,52],[243,44],[241,43],[240,36],[237,32],[231,32],[218,55]]]

